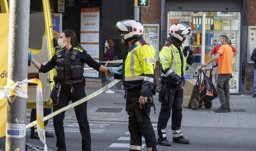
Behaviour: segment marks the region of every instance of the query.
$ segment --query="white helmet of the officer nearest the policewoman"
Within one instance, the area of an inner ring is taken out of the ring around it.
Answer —
[[[123,20],[116,23],[116,28],[119,32],[124,31],[122,39],[128,42],[138,37],[143,36],[143,26],[139,21],[136,20]]]

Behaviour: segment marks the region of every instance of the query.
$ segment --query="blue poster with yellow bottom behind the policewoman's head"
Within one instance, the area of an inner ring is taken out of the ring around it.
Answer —
[[[54,38],[58,41],[58,39],[60,38],[60,33],[62,31],[62,14],[53,13],[51,15],[52,15],[52,24],[53,24],[53,35],[54,35]]]

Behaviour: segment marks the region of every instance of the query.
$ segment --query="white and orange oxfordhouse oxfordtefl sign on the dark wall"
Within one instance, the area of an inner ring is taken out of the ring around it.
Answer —
[[[99,61],[99,35],[100,8],[81,8],[81,45],[95,61]],[[86,70],[84,76],[99,77],[99,72]]]

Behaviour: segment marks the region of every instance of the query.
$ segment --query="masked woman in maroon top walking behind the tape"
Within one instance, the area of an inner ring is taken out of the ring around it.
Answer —
[[[115,56],[115,51],[114,51],[114,42],[112,39],[108,39],[105,42],[105,61],[112,61],[114,56]],[[113,63],[106,63],[105,67],[112,67]],[[114,67],[114,66],[113,66]],[[115,80],[114,76],[108,77],[107,76],[108,83],[112,82]],[[109,90],[105,91],[106,93],[115,93],[115,85],[113,85]]]

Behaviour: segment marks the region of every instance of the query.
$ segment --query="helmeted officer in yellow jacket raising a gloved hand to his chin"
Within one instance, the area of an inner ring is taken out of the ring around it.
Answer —
[[[186,39],[185,35],[189,35],[190,32],[191,28],[186,24],[176,23],[172,25],[169,29],[170,40],[167,41],[159,53],[162,71],[161,89],[165,90],[168,96],[162,99],[162,95],[159,95],[159,100],[162,102],[157,123],[157,143],[159,145],[171,145],[167,140],[165,130],[170,116],[173,143],[190,143],[189,140],[183,137],[181,131],[184,73],[192,65],[195,57],[193,48],[190,46],[182,47]],[[188,57],[187,53],[189,53]]]

